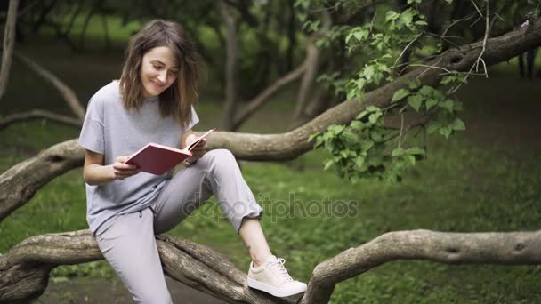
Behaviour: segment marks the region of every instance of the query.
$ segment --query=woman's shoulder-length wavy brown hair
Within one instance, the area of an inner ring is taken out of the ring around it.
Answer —
[[[160,114],[163,117],[174,116],[174,120],[185,127],[190,122],[191,106],[198,103],[200,57],[184,28],[173,21],[149,21],[130,39],[120,76],[124,107],[127,110],[141,108],[144,99],[142,57],[157,46],[169,47],[179,68],[177,79],[159,95]]]

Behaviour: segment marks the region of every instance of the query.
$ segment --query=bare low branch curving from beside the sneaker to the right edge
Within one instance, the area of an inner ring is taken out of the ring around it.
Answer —
[[[335,284],[394,260],[446,264],[541,264],[541,230],[444,233],[396,231],[350,248],[314,268],[301,303],[327,303]]]

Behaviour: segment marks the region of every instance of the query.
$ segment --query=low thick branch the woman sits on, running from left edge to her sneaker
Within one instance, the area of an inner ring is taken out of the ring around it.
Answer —
[[[246,274],[220,253],[173,236],[157,236],[167,276],[230,303],[287,303],[246,285]],[[33,236],[0,256],[0,303],[28,301],[41,295],[58,265],[101,260],[89,230]]]

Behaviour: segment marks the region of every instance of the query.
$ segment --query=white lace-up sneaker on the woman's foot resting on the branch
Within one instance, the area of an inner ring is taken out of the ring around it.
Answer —
[[[254,268],[254,262],[251,262],[248,286],[280,298],[306,292],[306,284],[289,276],[284,267],[285,262],[286,260],[274,255],[258,268]]]

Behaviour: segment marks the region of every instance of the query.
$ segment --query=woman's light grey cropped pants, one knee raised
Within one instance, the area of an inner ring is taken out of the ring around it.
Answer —
[[[154,235],[174,228],[213,194],[237,233],[243,218],[262,217],[234,156],[217,149],[169,180],[151,208],[119,215],[97,231],[101,253],[135,302],[171,303]]]

